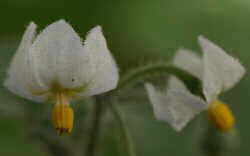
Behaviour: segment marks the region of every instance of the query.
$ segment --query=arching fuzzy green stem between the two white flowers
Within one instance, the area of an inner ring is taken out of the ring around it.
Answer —
[[[138,82],[147,81],[149,79],[167,74],[176,76],[185,83],[186,87],[193,94],[203,97],[201,82],[198,78],[172,64],[164,63],[146,65],[130,71],[121,78],[115,92],[119,93],[121,90],[126,89],[129,86],[131,87]]]

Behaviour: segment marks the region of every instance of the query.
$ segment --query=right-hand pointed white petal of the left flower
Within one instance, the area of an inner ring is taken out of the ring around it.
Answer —
[[[88,33],[84,43],[84,52],[90,55],[93,65],[91,82],[84,94],[95,95],[116,88],[119,79],[118,68],[107,47],[100,26]]]

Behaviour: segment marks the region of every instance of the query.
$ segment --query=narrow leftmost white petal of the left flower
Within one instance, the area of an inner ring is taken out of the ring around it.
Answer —
[[[44,97],[34,96],[31,94],[32,90],[40,91],[41,87],[34,81],[29,59],[29,48],[34,40],[36,33],[36,25],[31,22],[27,27],[22,41],[14,55],[10,68],[8,70],[8,77],[4,82],[13,93],[28,98],[37,102],[44,100]]]

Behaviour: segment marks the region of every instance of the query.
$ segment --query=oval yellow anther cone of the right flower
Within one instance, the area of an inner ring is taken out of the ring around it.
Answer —
[[[235,119],[230,108],[219,100],[213,101],[208,109],[210,120],[222,132],[228,132],[234,126]]]

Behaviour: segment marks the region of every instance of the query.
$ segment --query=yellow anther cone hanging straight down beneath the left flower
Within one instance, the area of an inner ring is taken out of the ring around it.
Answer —
[[[52,111],[52,123],[59,135],[71,133],[74,112],[69,106],[69,99],[62,93],[56,94],[56,104]]]

